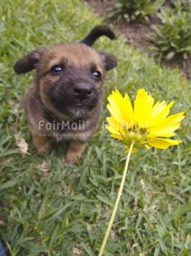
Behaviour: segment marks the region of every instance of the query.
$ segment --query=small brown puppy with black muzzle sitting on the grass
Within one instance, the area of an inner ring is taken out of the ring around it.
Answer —
[[[114,39],[104,26],[95,27],[81,43],[66,43],[35,50],[16,62],[16,73],[36,69],[24,105],[34,145],[40,154],[49,150],[51,137],[69,140],[65,157],[74,164],[100,118],[105,71],[116,58],[90,46],[100,36]]]

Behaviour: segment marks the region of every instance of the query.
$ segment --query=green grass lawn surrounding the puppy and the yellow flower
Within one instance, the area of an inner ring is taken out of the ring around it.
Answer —
[[[99,129],[76,166],[63,164],[61,148],[40,157],[21,106],[32,73],[18,76],[12,67],[41,46],[81,40],[102,18],[78,0],[2,0],[0,14],[0,237],[7,255],[98,254],[126,157],[124,146],[102,125],[109,116],[107,96],[119,88],[133,98],[144,87],[156,100],[174,100],[173,111],[185,111],[176,135],[183,143],[132,155],[105,256],[189,256],[191,83],[178,69],[161,69],[122,37],[101,38],[95,48],[118,56],[119,64],[107,74]],[[16,133],[30,145],[30,155],[16,148]]]

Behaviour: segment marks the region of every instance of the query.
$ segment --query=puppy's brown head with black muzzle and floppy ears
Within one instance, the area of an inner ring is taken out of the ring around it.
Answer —
[[[100,99],[105,71],[116,59],[85,44],[61,44],[35,50],[15,64],[16,73],[36,69],[35,86],[44,107],[66,116],[84,116]]]

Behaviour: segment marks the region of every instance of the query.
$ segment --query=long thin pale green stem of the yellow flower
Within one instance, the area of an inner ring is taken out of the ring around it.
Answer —
[[[114,210],[113,210],[111,218],[109,220],[109,225],[108,225],[108,228],[107,228],[106,233],[105,233],[105,238],[104,238],[104,240],[103,240],[103,242],[101,244],[100,252],[99,252],[98,256],[102,256],[103,253],[104,253],[105,244],[107,242],[107,239],[108,239],[108,236],[109,236],[112,224],[114,222],[114,216],[116,214],[116,211],[118,210],[120,197],[121,197],[121,194],[122,194],[122,191],[123,191],[123,185],[124,185],[126,174],[127,174],[127,171],[128,171],[128,163],[129,163],[129,159],[130,159],[130,156],[131,156],[131,153],[132,153],[132,150],[133,150],[133,145],[134,145],[134,141],[130,145],[130,148],[129,148],[129,151],[128,151],[128,156],[127,156],[126,164],[125,164],[124,171],[123,171],[123,177],[122,177],[121,184],[120,184],[120,187],[119,187],[118,197],[117,197],[117,199],[115,201]]]

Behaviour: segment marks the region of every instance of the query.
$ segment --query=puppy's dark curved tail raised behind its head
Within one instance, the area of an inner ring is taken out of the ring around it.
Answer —
[[[109,39],[114,40],[114,32],[107,26],[95,26],[94,29],[81,41],[81,43],[92,46],[100,36],[107,36]]]

